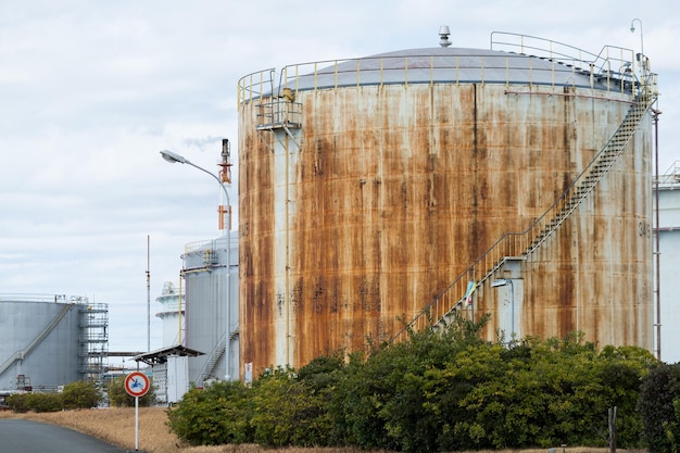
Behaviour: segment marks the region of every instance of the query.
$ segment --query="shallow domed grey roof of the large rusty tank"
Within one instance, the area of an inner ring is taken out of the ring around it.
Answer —
[[[590,67],[578,67],[557,59],[522,53],[453,47],[407,49],[354,60],[328,63],[301,75],[291,87],[298,90],[390,84],[486,83],[576,86],[607,89],[606,80],[593,77]],[[319,63],[313,63],[314,67]],[[291,67],[287,68],[290,76]]]

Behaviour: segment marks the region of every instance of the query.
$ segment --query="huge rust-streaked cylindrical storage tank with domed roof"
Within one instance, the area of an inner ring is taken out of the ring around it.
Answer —
[[[454,311],[490,313],[489,339],[652,348],[655,76],[631,50],[529,39],[239,81],[247,372]]]

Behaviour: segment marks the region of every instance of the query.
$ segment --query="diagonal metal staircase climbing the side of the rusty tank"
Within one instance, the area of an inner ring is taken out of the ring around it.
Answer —
[[[389,343],[406,339],[408,331],[418,331],[424,328],[445,328],[450,325],[454,313],[465,305],[469,282],[473,282],[474,288],[478,288],[491,278],[505,261],[526,260],[541,247],[578,207],[581,201],[595,189],[595,186],[622,154],[640,122],[655,101],[656,95],[651,95],[648,91],[643,91],[642,95],[638,96],[614,136],[543,215],[525,231],[503,235],[461,276],[429,302],[408,325],[398,331],[389,340]]]

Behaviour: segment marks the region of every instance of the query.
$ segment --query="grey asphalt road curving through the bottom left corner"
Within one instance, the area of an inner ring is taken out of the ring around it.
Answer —
[[[125,453],[127,450],[61,426],[0,419],[0,453]]]

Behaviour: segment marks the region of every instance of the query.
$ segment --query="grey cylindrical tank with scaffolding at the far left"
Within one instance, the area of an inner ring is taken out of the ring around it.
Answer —
[[[98,381],[109,354],[109,307],[85,297],[0,294],[0,390]]]

